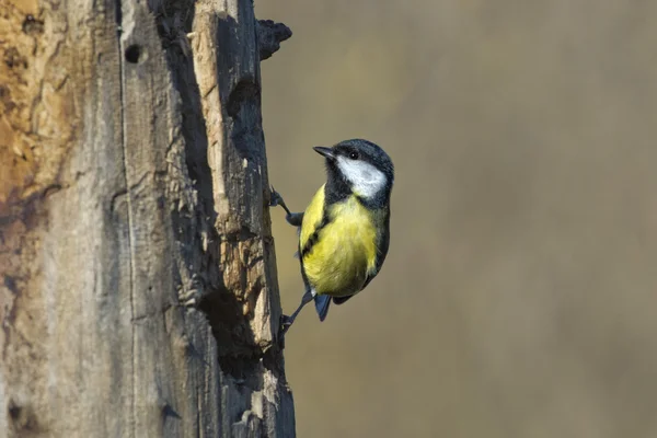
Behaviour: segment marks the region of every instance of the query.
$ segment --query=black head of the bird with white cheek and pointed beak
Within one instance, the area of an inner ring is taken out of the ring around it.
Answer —
[[[354,193],[372,205],[389,201],[394,168],[388,153],[379,146],[354,139],[341,141],[333,148],[315,147],[314,150],[326,158],[330,195],[344,198]]]

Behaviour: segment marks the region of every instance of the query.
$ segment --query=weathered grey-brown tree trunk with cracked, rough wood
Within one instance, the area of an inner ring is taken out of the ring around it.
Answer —
[[[256,39],[250,0],[0,5],[0,436],[295,435]]]

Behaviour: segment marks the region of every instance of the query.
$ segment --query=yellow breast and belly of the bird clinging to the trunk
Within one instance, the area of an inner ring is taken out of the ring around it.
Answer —
[[[376,269],[377,230],[355,196],[324,215],[322,186],[304,212],[299,243],[306,276],[320,295],[356,293]]]

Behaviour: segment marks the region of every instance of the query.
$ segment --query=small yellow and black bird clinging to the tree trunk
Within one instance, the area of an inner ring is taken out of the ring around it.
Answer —
[[[320,321],[331,301],[342,304],[379,274],[390,246],[392,160],[378,145],[350,139],[314,147],[324,157],[326,182],[302,212],[291,212],[272,187],[270,207],[281,206],[298,227],[298,257],[304,293],[297,310],[283,316],[285,334],[306,304],[314,300]]]

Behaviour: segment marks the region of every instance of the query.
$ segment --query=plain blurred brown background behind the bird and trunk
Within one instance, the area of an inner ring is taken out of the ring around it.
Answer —
[[[300,437],[657,436],[657,2],[258,0],[270,181],[396,165],[382,273],[287,338]],[[286,312],[302,283],[273,212]]]

